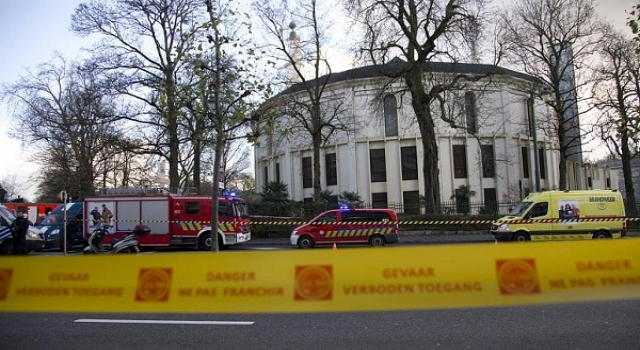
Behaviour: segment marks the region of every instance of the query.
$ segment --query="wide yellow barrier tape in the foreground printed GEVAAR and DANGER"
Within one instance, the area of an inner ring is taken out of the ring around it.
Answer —
[[[0,311],[259,313],[640,299],[640,240],[11,257]],[[567,254],[571,252],[571,254]]]

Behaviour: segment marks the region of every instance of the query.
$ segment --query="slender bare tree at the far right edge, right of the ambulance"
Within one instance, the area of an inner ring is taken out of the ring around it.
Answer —
[[[640,154],[640,57],[634,52],[635,45],[621,33],[605,37],[594,74],[592,101],[602,113],[595,129],[622,162],[630,216],[638,212],[631,160]]]

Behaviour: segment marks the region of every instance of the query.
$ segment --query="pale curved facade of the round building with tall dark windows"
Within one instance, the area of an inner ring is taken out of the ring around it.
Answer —
[[[488,65],[436,63],[424,81],[441,84],[459,74],[486,78],[444,93],[443,109],[433,106],[441,200],[466,188],[475,193],[471,202],[492,206],[536,189],[557,189],[558,141],[544,103],[532,99],[536,79]],[[340,128],[321,145],[322,189],[334,195],[356,192],[372,206],[415,205],[425,194],[424,159],[406,86],[373,66],[326,79],[323,116],[339,120]],[[300,103],[305,96],[302,84],[278,96],[280,116],[255,146],[258,192],[277,181],[288,185],[292,200],[313,198],[311,137],[296,127],[299,121],[290,117],[286,102]]]

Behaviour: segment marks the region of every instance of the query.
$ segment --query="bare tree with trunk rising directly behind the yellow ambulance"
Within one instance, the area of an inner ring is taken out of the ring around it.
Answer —
[[[559,144],[559,187],[567,189],[567,162],[582,162],[580,90],[585,67],[602,38],[593,0],[517,0],[501,20],[508,57],[517,68],[540,79],[532,92],[553,110],[551,133]]]

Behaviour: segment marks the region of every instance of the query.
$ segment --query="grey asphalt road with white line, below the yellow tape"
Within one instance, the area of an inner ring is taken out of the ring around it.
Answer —
[[[640,301],[366,313],[0,316],[2,349],[640,349]]]

